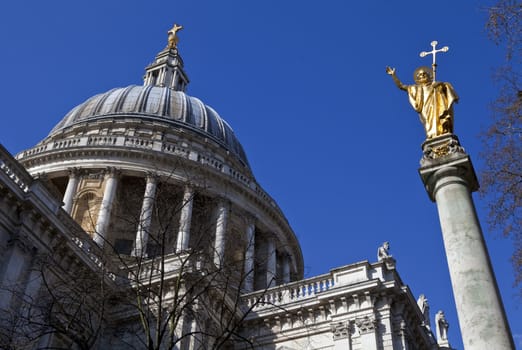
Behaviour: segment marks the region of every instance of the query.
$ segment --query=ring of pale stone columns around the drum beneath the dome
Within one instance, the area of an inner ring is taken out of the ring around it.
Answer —
[[[240,262],[251,276],[245,291],[297,274],[284,243],[256,226],[254,213],[205,188],[116,168],[71,168],[66,179],[51,181],[62,186],[63,209],[106,250],[145,258],[205,251],[216,266]]]

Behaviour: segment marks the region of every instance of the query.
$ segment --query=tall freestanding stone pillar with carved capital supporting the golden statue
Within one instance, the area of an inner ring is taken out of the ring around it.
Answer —
[[[454,135],[423,144],[419,173],[437,203],[451,284],[466,349],[514,349],[471,192],[478,189],[469,156]]]

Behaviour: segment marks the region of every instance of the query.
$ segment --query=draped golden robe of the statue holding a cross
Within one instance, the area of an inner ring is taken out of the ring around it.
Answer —
[[[453,133],[453,103],[458,102],[459,97],[450,83],[410,85],[408,97],[413,108],[419,113],[428,139]]]

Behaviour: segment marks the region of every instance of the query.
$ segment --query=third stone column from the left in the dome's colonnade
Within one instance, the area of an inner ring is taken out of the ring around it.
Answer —
[[[147,256],[147,243],[149,241],[149,229],[152,221],[152,208],[154,207],[157,187],[157,177],[152,174],[147,175],[147,184],[145,185],[145,194],[143,195],[143,203],[141,205],[138,232],[136,233],[136,240],[132,251],[132,255],[134,256]]]

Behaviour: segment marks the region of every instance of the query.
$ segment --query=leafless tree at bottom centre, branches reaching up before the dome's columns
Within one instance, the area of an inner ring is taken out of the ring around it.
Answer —
[[[253,278],[254,271],[245,271],[244,262],[247,248],[254,242],[236,237],[231,243],[235,254],[216,263],[212,248],[215,221],[208,220],[215,203],[210,198],[191,198],[199,207],[191,227],[191,248],[175,251],[172,233],[178,229],[179,213],[186,205],[181,198],[176,188],[160,187],[147,232],[149,249],[134,256],[114,255],[126,275],[120,288],[115,340],[123,341],[127,348],[148,350],[174,349],[182,343],[193,349],[249,344],[240,328],[255,304],[246,307],[241,295],[244,282]],[[132,220],[132,215],[126,219]],[[127,327],[121,326],[124,318]]]

